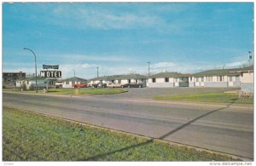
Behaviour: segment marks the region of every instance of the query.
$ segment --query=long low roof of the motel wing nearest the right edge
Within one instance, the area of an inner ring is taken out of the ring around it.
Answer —
[[[247,66],[243,68],[232,68],[232,69],[215,69],[208,70],[204,72],[197,72],[192,74],[194,77],[203,77],[203,76],[239,76],[241,71],[252,71],[253,66]]]

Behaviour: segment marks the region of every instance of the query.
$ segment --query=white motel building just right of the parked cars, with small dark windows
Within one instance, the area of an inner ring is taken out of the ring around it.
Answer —
[[[190,74],[160,72],[148,77],[149,88],[189,87]]]

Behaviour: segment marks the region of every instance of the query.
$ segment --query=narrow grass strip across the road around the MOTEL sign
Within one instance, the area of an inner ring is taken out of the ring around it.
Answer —
[[[35,90],[26,90],[26,91],[18,91],[17,89],[3,89],[3,91],[13,91],[20,93],[31,93],[36,94]],[[89,89],[89,88],[81,88],[81,89],[49,89],[48,94],[120,94],[127,92],[127,89]],[[38,94],[43,94],[44,90],[38,90]]]

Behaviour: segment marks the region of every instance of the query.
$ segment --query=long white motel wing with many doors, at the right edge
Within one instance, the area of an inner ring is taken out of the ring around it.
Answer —
[[[247,76],[248,73],[253,73],[253,66],[198,72],[189,77],[189,87],[239,88],[253,83],[253,74]]]

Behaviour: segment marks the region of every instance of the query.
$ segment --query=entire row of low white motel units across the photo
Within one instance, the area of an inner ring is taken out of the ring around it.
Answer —
[[[26,88],[35,87],[35,78],[26,78],[16,81],[16,87],[26,83]],[[49,78],[38,77],[38,87],[45,87],[46,82],[51,82]],[[144,83],[149,88],[172,88],[172,87],[238,87],[242,91],[253,92],[253,66],[233,69],[208,70],[195,74],[182,74],[178,72],[160,72],[149,77],[139,74],[113,75],[95,77],[86,80],[79,77],[71,77],[61,80],[63,88],[73,88],[77,83]],[[49,83],[49,84],[51,84]]]

